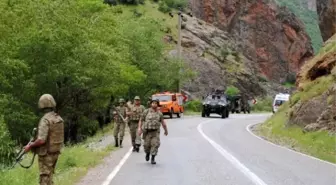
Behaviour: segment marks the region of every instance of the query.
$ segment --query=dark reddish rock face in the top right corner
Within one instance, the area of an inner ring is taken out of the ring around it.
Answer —
[[[336,0],[316,0],[323,41],[336,33]]]

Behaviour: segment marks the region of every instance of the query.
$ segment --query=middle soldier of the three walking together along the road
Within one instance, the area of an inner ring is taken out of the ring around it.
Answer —
[[[132,146],[133,146],[133,152],[137,151],[139,152],[140,146],[141,146],[141,138],[137,134],[137,128],[139,124],[140,117],[142,113],[145,111],[145,107],[140,104],[140,97],[135,96],[134,97],[134,105],[130,107],[130,122],[128,124],[131,132],[131,140],[132,140]]]

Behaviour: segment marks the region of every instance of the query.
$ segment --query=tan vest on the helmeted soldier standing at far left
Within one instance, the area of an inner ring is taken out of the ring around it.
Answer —
[[[64,121],[55,112],[46,113],[41,119],[45,119],[49,124],[47,141],[38,148],[38,155],[60,153],[64,142]]]

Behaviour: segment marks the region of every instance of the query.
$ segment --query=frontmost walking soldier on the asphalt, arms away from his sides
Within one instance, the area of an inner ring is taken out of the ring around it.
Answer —
[[[155,156],[160,147],[160,126],[164,129],[164,134],[168,135],[168,129],[163,114],[158,110],[159,100],[151,101],[151,108],[146,109],[139,121],[139,136],[143,133],[144,150],[146,153],[146,161],[149,161],[152,155],[151,163],[156,164]]]

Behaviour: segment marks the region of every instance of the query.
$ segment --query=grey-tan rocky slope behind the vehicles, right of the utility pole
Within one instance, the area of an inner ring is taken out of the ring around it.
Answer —
[[[250,96],[285,91],[281,85],[267,82],[258,66],[239,52],[239,41],[229,33],[195,17],[184,16],[182,57],[197,72],[197,77],[184,83],[183,90],[198,98],[211,88],[223,89],[228,85],[234,85]],[[171,38],[166,39],[169,40]],[[176,51],[171,55],[176,55]]]

